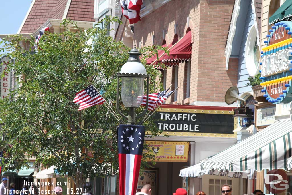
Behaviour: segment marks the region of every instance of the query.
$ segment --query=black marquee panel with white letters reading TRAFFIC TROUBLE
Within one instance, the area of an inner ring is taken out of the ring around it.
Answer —
[[[157,112],[154,123],[167,132],[233,134],[234,118],[227,114]]]

